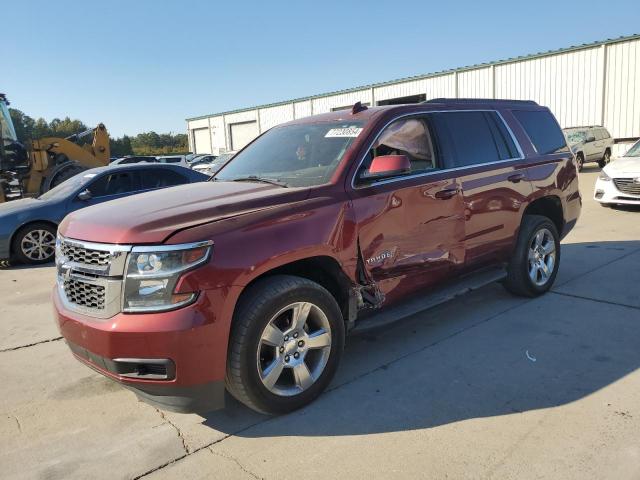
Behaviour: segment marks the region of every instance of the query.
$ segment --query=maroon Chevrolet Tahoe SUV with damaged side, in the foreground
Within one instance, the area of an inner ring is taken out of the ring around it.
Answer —
[[[438,99],[265,132],[210,182],[59,228],[53,299],[74,355],[163,408],[288,412],[345,334],[502,279],[554,282],[581,208],[575,160],[534,102]]]

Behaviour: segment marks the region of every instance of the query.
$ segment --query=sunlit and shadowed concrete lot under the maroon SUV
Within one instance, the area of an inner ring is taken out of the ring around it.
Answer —
[[[591,200],[552,293],[491,285],[352,338],[279,418],[164,413],[75,361],[52,267],[0,270],[0,478],[640,478],[640,209]]]

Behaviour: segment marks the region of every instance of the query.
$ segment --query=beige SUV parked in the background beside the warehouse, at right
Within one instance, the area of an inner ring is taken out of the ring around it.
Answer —
[[[587,162],[598,162],[603,168],[611,160],[613,138],[609,131],[600,126],[572,127],[564,129],[571,151],[576,156],[578,170]]]

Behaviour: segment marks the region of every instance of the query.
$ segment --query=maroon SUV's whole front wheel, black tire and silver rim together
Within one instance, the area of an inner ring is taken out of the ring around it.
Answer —
[[[296,410],[333,378],[344,337],[340,308],[322,286],[288,275],[260,280],[234,315],[227,389],[262,413]]]

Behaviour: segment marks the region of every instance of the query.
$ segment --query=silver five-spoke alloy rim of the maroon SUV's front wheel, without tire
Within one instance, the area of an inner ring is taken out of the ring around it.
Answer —
[[[322,375],[331,353],[331,326],[317,305],[296,302],[276,313],[258,342],[257,368],[271,393],[293,396]]]

